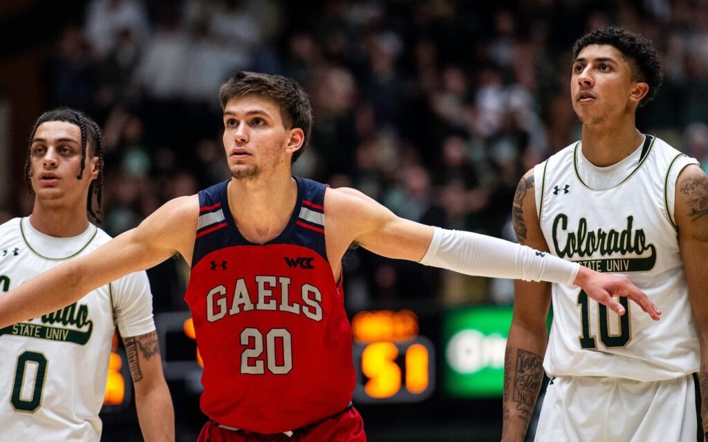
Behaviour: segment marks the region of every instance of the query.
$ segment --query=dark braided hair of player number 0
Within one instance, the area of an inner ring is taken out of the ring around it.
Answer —
[[[81,131],[81,170],[76,176],[77,180],[81,180],[81,175],[84,175],[84,167],[86,164],[86,146],[91,145],[93,150],[92,156],[98,156],[98,177],[91,182],[89,186],[89,197],[86,200],[86,210],[93,216],[97,223],[101,223],[101,219],[97,214],[101,213],[101,198],[103,193],[103,135],[98,124],[91,120],[78,110],[70,109],[69,107],[58,107],[57,109],[49,110],[35,121],[30,134],[30,143],[27,149],[27,158],[25,159],[25,184],[30,194],[33,194],[32,181],[30,180],[30,161],[32,158],[32,142],[35,139],[35,133],[40,124],[50,121],[63,121],[75,124]],[[93,210],[93,194],[96,194],[96,211]]]

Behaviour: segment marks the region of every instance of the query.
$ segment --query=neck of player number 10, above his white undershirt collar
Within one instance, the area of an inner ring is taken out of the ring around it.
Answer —
[[[634,124],[583,124],[583,156],[598,167],[619,163],[641,144],[643,135]]]

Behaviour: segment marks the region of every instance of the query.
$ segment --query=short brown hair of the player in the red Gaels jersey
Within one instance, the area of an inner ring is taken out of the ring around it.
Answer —
[[[312,105],[297,81],[280,75],[238,71],[219,89],[222,110],[229,100],[246,95],[258,95],[280,107],[280,117],[286,129],[299,127],[304,133],[302,147],[292,154],[295,163],[307,146],[312,131]]]

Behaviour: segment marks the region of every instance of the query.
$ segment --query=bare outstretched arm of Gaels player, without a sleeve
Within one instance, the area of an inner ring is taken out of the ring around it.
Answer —
[[[101,248],[26,281],[0,297],[0,327],[68,306],[97,287],[177,252],[190,257],[198,213],[196,195],[173,199]]]

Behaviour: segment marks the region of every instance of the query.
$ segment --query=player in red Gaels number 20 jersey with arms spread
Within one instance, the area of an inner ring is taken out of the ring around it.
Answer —
[[[531,248],[401,219],[353,189],[291,175],[312,126],[302,88],[239,72],[222,86],[232,179],[167,202],[140,226],[0,298],[0,327],[57,310],[128,272],[180,254],[204,361],[200,441],[365,441],[341,258],[353,243],[467,274],[576,284],[618,314],[627,279]]]

